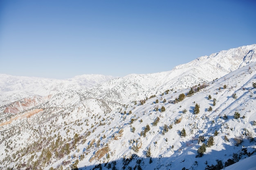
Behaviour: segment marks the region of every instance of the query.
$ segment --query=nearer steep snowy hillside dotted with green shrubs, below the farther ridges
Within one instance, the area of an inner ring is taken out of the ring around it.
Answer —
[[[93,98],[72,103],[76,101],[73,96],[69,107],[65,102],[58,104],[63,107],[46,102],[34,108],[36,113],[31,116],[21,113],[20,118],[1,126],[1,166],[223,168],[256,154],[253,83],[256,63],[196,85],[193,94],[191,89],[166,89],[164,95],[148,96],[143,105],[136,101],[113,111],[104,110],[101,100]],[[185,94],[182,101],[180,94]],[[194,114],[196,104],[198,114]],[[240,114],[237,118],[236,112]],[[199,152],[203,144],[207,145],[205,152],[202,148]]]

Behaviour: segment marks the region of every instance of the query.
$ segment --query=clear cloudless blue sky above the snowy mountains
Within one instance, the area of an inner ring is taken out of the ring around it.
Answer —
[[[0,73],[168,71],[255,44],[255,9],[253,0],[0,0]]]

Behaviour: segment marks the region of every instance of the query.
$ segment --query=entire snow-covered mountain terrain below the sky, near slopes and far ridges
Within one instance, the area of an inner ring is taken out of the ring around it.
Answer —
[[[122,78],[0,75],[0,169],[222,169],[256,155],[255,49]]]

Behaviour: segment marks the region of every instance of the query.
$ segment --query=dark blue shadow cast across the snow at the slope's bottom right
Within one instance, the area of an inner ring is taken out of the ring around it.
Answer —
[[[185,169],[198,169],[202,167],[212,168],[225,167],[231,165],[240,159],[252,156],[256,154],[256,150],[244,147],[243,145],[250,146],[254,139],[243,139],[240,144],[235,145],[236,139],[230,138],[229,142],[223,142],[223,149],[209,150],[204,153],[202,157],[196,157],[197,149],[202,144],[198,144],[197,140],[189,140],[181,142],[181,147],[178,150],[167,147],[166,150],[172,150],[173,154],[171,157],[166,155],[159,155],[159,157],[139,157],[136,154],[130,155],[130,157],[110,161],[108,163],[95,163],[92,166],[78,167],[79,170],[144,170],[144,169],[159,169],[159,170],[182,170]],[[206,141],[204,142],[206,143]],[[214,145],[218,145],[214,143]],[[152,148],[151,148],[152,149]],[[186,152],[187,154],[183,154]],[[234,152],[234,153],[233,153]],[[146,154],[146,151],[144,151]],[[71,167],[70,167],[71,168]],[[72,169],[72,168],[71,168]]]

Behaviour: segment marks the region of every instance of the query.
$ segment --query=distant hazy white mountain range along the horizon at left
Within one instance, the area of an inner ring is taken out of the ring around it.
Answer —
[[[67,89],[89,89],[112,78],[114,77],[90,74],[58,80],[0,74],[0,106],[34,95],[48,96]]]

